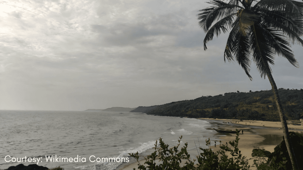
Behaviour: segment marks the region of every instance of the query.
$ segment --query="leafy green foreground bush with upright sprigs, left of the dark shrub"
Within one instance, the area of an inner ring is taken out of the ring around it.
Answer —
[[[236,129],[236,131],[238,130]],[[215,153],[209,147],[210,139],[208,138],[208,140],[205,140],[208,149],[200,148],[203,152],[200,153],[196,159],[192,160],[186,150],[187,143],[185,143],[185,146],[183,146],[180,151],[178,150],[181,139],[182,136],[180,137],[180,140],[178,140],[178,145],[169,149],[169,145],[166,145],[160,138],[160,148],[157,149],[158,141],[156,141],[155,152],[145,158],[144,165],[141,165],[139,162],[138,152],[135,154],[130,153],[129,155],[137,160],[139,163],[139,170],[249,170],[251,167],[248,165],[248,160],[250,159],[246,159],[245,156],[242,156],[241,151],[238,149],[238,142],[240,139],[239,133],[236,134],[236,140],[229,142],[234,149],[229,148],[227,145],[223,145],[220,141],[220,150]],[[230,152],[229,154],[233,157],[228,158],[226,155],[227,152]],[[198,164],[194,166],[196,160],[198,161]],[[185,161],[183,166],[180,165],[182,161]],[[147,166],[145,166],[145,164]]]

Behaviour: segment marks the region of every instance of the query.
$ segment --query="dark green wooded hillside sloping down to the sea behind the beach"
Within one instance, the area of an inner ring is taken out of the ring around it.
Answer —
[[[280,88],[278,91],[287,119],[300,119],[303,116],[303,89]],[[190,118],[280,121],[271,90],[202,96],[195,100],[159,105],[145,113]]]

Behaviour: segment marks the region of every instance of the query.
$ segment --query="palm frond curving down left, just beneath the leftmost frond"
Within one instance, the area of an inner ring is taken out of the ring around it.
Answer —
[[[206,47],[206,43],[208,41],[211,41],[212,38],[214,37],[214,34],[216,34],[216,36],[218,37],[219,34],[221,34],[221,31],[223,31],[223,33],[226,33],[228,31],[229,28],[231,28],[232,25],[232,21],[234,19],[234,15],[228,15],[225,18],[222,18],[220,21],[216,22],[206,33],[205,38],[204,38],[204,50],[207,49]]]

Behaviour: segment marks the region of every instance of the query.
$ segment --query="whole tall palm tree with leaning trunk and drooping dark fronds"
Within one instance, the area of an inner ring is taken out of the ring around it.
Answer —
[[[205,31],[206,43],[221,32],[229,32],[224,51],[230,62],[235,57],[252,80],[250,71],[251,58],[264,78],[267,76],[275,96],[283,128],[285,143],[293,169],[298,164],[292,149],[285,114],[278,95],[278,89],[271,75],[269,64],[274,64],[275,55],[285,57],[292,65],[298,67],[291,51],[291,44],[297,42],[303,46],[303,3],[292,0],[209,0],[211,6],[200,10],[198,20]]]

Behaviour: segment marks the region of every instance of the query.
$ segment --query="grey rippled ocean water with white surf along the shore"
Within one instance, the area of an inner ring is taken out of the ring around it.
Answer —
[[[205,148],[205,139],[215,138],[211,126],[205,120],[142,113],[1,110],[0,169],[20,163],[65,170],[123,169],[134,161],[128,153],[146,155],[160,137],[174,146],[182,135],[181,144],[199,141]],[[188,149],[196,149],[192,146]]]

